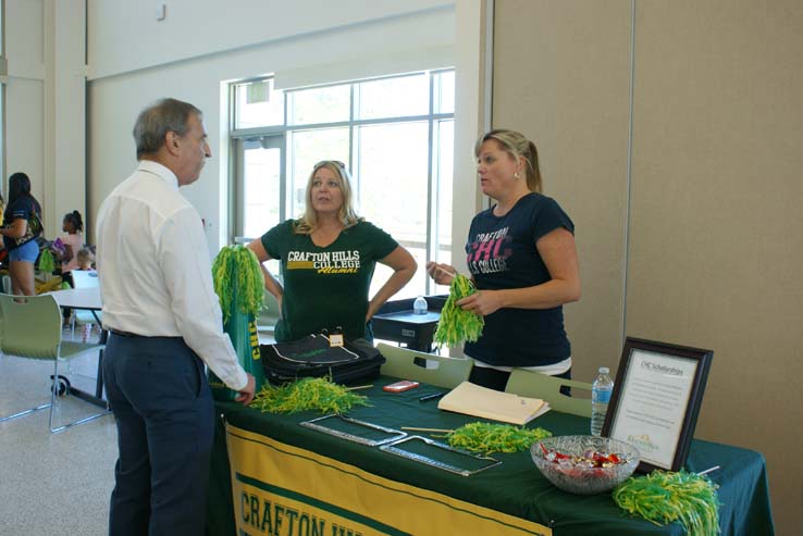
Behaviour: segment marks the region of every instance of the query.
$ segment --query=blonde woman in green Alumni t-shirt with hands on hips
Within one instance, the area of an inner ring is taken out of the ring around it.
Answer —
[[[261,263],[277,259],[284,286],[262,265],[264,286],[280,304],[277,341],[342,328],[346,339],[372,339],[369,321],[416,273],[416,260],[391,235],[358,217],[343,162],[312,167],[305,213],[248,245]],[[393,275],[369,300],[380,262]]]

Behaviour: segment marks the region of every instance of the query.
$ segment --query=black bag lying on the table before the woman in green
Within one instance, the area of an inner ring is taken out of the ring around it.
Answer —
[[[349,384],[379,376],[384,356],[365,339],[346,340],[332,347],[323,334],[273,345],[260,345],[264,377],[281,385],[305,377],[328,376],[336,384]]]

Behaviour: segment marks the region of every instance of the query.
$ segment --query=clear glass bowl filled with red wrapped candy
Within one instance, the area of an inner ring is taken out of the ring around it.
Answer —
[[[535,465],[564,491],[593,495],[613,489],[639,465],[632,445],[608,437],[556,436],[530,448]]]

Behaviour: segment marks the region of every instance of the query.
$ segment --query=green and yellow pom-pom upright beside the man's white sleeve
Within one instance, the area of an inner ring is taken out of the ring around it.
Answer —
[[[254,251],[243,246],[226,246],[221,249],[212,263],[212,282],[223,311],[224,324],[232,314],[235,286],[235,307],[245,314],[259,314],[264,298],[264,278]]]

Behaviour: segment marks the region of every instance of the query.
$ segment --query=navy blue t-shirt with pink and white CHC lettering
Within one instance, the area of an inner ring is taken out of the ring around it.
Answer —
[[[535,242],[558,227],[575,224],[558,203],[541,194],[528,194],[504,216],[493,208],[471,221],[466,245],[467,263],[480,290],[541,285],[552,279]],[[542,366],[571,356],[564,329],[564,310],[504,308],[485,316],[477,342],[466,342],[466,354],[493,365]]]

